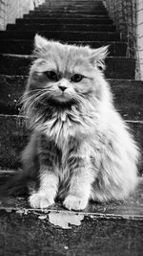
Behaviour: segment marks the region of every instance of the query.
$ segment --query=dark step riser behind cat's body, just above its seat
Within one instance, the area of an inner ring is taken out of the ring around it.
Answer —
[[[139,172],[143,170],[143,122],[128,121],[133,136],[141,149]],[[24,118],[14,115],[0,115],[0,168],[17,170],[21,168],[20,154],[28,143],[30,131],[26,129]]]

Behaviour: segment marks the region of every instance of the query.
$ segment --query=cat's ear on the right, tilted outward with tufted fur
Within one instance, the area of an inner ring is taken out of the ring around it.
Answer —
[[[108,48],[109,46],[103,46],[92,50],[92,56],[90,57],[90,61],[92,65],[96,65],[100,69],[105,69],[105,58],[108,56]]]

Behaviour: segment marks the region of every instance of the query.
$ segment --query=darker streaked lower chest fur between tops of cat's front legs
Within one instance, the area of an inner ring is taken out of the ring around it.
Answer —
[[[48,168],[59,177],[59,184],[66,184],[72,175],[72,163],[76,163],[79,156],[81,142],[69,136],[63,139],[63,144],[56,144],[47,135],[40,136],[40,151],[44,152]],[[46,152],[46,153],[45,153]]]

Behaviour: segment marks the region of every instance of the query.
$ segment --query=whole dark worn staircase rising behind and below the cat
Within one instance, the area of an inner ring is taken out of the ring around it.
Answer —
[[[143,81],[134,81],[135,60],[126,57],[127,42],[120,40],[102,1],[47,0],[0,31],[0,183],[21,168],[20,152],[28,141],[19,99],[36,33],[92,48],[110,45],[105,76],[114,105],[132,128],[142,152]],[[140,176],[142,171],[143,155]],[[142,255],[142,177],[139,180],[136,192],[124,203],[94,203],[78,214],[70,214],[59,203],[41,213],[30,209],[26,198],[1,198],[0,255]]]

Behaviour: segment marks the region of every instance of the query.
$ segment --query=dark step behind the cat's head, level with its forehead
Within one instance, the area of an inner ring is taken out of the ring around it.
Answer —
[[[0,55],[0,73],[2,75],[28,75],[31,56]],[[106,58],[106,78],[134,79],[135,59],[123,57]]]

